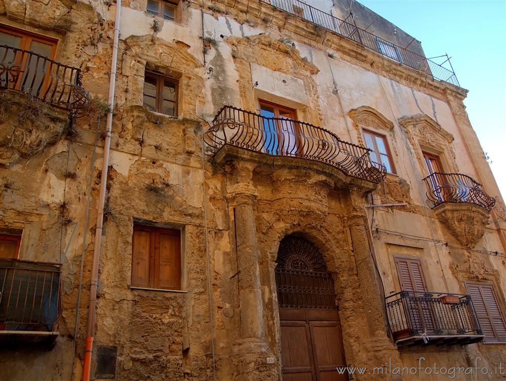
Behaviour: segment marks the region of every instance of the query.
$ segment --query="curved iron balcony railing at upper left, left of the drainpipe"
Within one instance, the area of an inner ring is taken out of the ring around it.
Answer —
[[[12,89],[67,110],[83,108],[81,71],[33,52],[0,46],[0,89]]]

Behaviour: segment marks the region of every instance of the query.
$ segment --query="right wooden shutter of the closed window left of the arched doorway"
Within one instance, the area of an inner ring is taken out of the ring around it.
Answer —
[[[155,288],[181,289],[181,240],[179,230],[157,232]]]

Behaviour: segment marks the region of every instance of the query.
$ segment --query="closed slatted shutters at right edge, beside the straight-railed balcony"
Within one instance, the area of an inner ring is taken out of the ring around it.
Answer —
[[[488,343],[506,342],[506,324],[490,283],[466,283],[478,321]]]

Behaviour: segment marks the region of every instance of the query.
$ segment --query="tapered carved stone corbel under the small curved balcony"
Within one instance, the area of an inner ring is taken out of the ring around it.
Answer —
[[[485,233],[489,213],[474,204],[443,203],[434,213],[463,246],[473,248]]]

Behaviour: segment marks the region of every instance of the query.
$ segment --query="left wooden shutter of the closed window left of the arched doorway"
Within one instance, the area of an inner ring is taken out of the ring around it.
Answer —
[[[134,228],[134,237],[132,239],[132,286],[153,287],[150,276],[151,240],[149,230]]]

